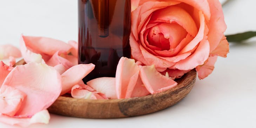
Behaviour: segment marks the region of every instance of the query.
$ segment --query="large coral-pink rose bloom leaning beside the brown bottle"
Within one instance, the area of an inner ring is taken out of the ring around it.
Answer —
[[[229,52],[218,0],[132,0],[132,21],[133,58],[171,77],[196,68],[204,79]]]

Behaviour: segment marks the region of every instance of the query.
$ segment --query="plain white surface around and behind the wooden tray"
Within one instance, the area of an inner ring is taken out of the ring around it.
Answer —
[[[256,31],[256,1],[231,0],[223,8],[226,34]],[[77,40],[76,0],[1,0],[0,44],[19,46],[25,35]],[[48,125],[29,128],[256,128],[256,38],[230,44],[208,78],[197,80],[177,105],[125,119],[79,119],[51,114]],[[12,128],[0,123],[0,128]],[[15,127],[14,127],[15,128]]]

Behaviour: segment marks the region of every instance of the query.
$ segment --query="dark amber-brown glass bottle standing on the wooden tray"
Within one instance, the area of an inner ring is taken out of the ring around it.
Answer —
[[[130,58],[130,0],[78,0],[79,63],[95,65],[85,82],[115,77],[122,56]]]

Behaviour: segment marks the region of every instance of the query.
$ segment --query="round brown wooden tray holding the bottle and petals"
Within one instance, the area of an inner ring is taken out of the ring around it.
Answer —
[[[25,64],[23,60],[16,63],[16,65],[23,64]],[[178,85],[167,91],[129,99],[86,100],[60,96],[48,110],[50,113],[58,115],[96,119],[154,113],[175,105],[188,95],[196,81],[196,70],[191,70],[175,81],[178,82]]]

